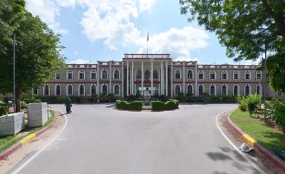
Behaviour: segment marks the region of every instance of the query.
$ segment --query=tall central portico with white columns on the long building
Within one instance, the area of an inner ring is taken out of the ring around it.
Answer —
[[[127,65],[127,96],[142,91],[168,96],[170,54],[125,54],[123,61]]]

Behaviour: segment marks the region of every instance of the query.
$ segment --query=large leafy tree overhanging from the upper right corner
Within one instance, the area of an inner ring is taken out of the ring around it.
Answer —
[[[281,66],[285,0],[180,0],[180,4],[181,14],[190,14],[189,22],[197,19],[199,25],[217,34],[219,43],[227,47],[227,56],[234,61],[256,60],[265,51],[271,53],[267,67],[271,86],[275,91],[285,92],[281,83],[275,83],[278,79],[274,76],[276,70],[285,76]],[[271,69],[276,63],[280,66]]]

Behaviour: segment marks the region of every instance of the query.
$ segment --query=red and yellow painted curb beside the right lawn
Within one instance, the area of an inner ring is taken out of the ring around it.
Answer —
[[[271,161],[271,163],[274,163],[274,165],[276,165],[278,168],[280,168],[282,171],[285,172],[285,161],[281,160],[279,157],[271,153],[271,151],[264,148],[264,146],[261,145],[261,143],[258,143],[257,140],[254,140],[254,138],[250,137],[247,133],[242,131],[242,129],[240,129],[238,126],[232,123],[232,120],[230,118],[231,115],[227,117],[227,120],[232,125],[232,127],[234,127],[234,129],[238,131],[239,134],[241,134],[245,140],[247,140],[251,145],[253,145],[254,148],[257,148],[257,150],[259,150],[260,153],[264,154],[266,158]]]

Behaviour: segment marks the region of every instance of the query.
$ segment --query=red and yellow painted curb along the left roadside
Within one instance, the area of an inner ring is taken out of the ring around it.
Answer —
[[[48,130],[48,128],[51,128],[51,126],[53,126],[55,121],[56,121],[56,116],[53,119],[53,123],[51,123],[50,125],[46,126],[45,128],[42,128],[41,130],[36,131],[36,133],[31,133],[30,135],[27,135],[26,137],[22,138],[17,143],[12,145],[10,148],[7,148],[6,150],[4,150],[4,152],[0,153],[0,160],[4,160],[9,155],[16,152],[16,150],[26,145],[26,143],[38,138],[38,136],[41,135],[44,131]]]

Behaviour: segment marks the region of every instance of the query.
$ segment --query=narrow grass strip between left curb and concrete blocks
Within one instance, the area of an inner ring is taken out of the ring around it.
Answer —
[[[54,111],[51,110],[51,118],[49,118],[48,121],[46,121],[46,123],[44,123],[44,125],[42,127],[33,128],[26,135],[22,135],[19,137],[15,137],[15,135],[9,135],[9,136],[5,136],[5,137],[1,137],[0,138],[0,153],[3,152],[4,150],[6,150],[7,148],[10,148],[11,145],[14,145],[15,143],[17,143],[22,138],[25,138],[27,135],[31,135],[32,133],[35,133],[36,131],[41,130],[42,128],[45,128],[46,126],[53,123],[55,116],[56,116],[56,113],[54,113]],[[25,124],[25,126],[27,127],[28,125]]]

